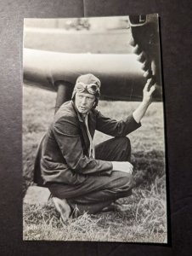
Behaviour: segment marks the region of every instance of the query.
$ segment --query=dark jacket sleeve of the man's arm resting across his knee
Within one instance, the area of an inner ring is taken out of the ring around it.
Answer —
[[[67,165],[79,174],[109,175],[112,172],[110,161],[95,160],[83,154],[79,128],[72,119],[60,118],[53,127],[54,137]]]

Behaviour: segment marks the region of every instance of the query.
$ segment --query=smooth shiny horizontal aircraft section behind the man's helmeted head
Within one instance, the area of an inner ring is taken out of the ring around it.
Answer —
[[[71,54],[24,49],[24,82],[48,90],[57,90],[58,81],[71,83],[84,73],[93,73],[102,82],[101,96],[107,100],[140,101],[144,71],[134,54]],[[161,101],[161,90],[155,101]]]

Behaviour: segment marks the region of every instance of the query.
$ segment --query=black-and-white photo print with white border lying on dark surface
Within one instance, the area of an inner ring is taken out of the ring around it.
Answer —
[[[167,243],[158,19],[24,20],[25,241]]]

